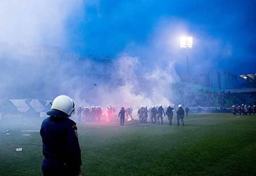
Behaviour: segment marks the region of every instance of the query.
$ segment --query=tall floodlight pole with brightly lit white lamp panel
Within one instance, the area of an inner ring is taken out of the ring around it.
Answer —
[[[187,76],[186,76],[186,81],[189,83],[189,66],[188,66],[188,49],[192,48],[193,46],[193,37],[190,36],[183,36],[180,37],[180,48],[185,48],[186,49],[186,58],[187,58]],[[184,88],[184,103],[186,106],[188,106],[188,88],[185,84]]]

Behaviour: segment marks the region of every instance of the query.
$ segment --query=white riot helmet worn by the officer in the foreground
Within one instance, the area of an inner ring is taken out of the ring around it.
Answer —
[[[47,114],[58,116],[54,110],[59,110],[69,117],[75,111],[75,101],[66,95],[57,96],[52,102],[51,111],[47,112]]]

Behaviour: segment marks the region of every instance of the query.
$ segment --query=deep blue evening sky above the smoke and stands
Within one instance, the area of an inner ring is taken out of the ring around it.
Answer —
[[[194,37],[189,56],[195,72],[200,72],[200,64],[205,68],[202,71],[256,72],[256,1],[97,1],[82,8],[66,24],[66,49],[81,56],[117,58],[125,52],[145,61],[150,58],[145,55],[147,49],[157,48],[152,42],[160,33],[168,35],[168,30],[180,28],[181,33]],[[174,45],[179,42],[170,46],[170,52],[178,49]],[[184,57],[180,53],[169,54]]]

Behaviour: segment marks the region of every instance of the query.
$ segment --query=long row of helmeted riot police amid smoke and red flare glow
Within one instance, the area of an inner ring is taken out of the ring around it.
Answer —
[[[168,122],[170,125],[172,125],[172,119],[174,116],[175,109],[172,108],[170,105],[167,105],[163,108],[162,105],[154,105],[147,108],[147,106],[141,106],[141,108],[137,111],[137,116],[140,123],[154,123],[154,124],[162,124],[163,125],[163,119],[164,117],[168,118]],[[180,121],[183,123],[183,117],[185,114],[188,116],[189,108],[186,107],[183,109],[181,105],[178,106],[178,109],[176,111],[177,113],[177,119],[180,119]],[[122,107],[118,114],[115,114],[115,108],[113,106],[108,106],[106,108],[106,113],[104,113],[104,110],[102,110],[101,106],[91,106],[90,108],[88,106],[85,106],[82,108],[80,105],[79,108],[76,110],[77,114],[77,120],[79,122],[96,122],[101,121],[102,118],[105,119],[105,121],[112,121],[115,117],[120,118],[120,125],[124,126],[125,119],[126,121],[134,120],[133,118],[133,108],[129,106],[128,108]],[[179,118],[178,118],[179,116]],[[179,121],[177,123],[179,125]]]

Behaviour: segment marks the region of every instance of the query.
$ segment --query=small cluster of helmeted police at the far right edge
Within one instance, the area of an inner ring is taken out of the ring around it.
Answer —
[[[255,115],[256,114],[256,106],[255,105],[233,105],[231,107],[231,111],[234,115]]]

